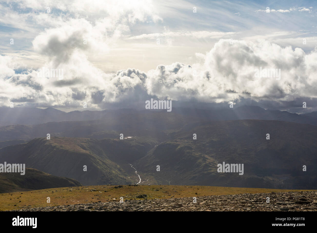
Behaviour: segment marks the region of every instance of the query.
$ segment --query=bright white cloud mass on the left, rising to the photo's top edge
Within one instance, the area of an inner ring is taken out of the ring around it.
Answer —
[[[136,79],[104,73],[88,60],[88,54],[106,54],[136,22],[161,20],[151,1],[17,1],[14,10],[3,8],[11,18],[23,18],[25,24],[38,23],[43,14],[44,21],[49,18],[55,22],[48,23],[32,45],[42,60],[38,68],[62,69],[64,76],[62,80],[39,77],[37,70],[14,62],[16,57],[0,56],[0,99],[4,106],[15,101],[20,106],[78,107],[86,100],[90,107],[98,108],[102,101],[116,101],[131,86],[134,88]],[[22,13],[26,11],[27,15]]]

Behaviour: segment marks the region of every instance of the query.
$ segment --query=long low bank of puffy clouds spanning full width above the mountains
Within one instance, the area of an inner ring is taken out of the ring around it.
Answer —
[[[15,64],[2,57],[0,65],[7,72],[2,74],[0,97],[38,107],[74,107],[86,101],[88,106],[100,109],[107,103],[143,103],[151,96],[207,103],[242,99],[285,103],[317,98],[317,49],[306,54],[302,49],[265,40],[220,39],[205,55],[197,56],[202,62],[175,62],[148,72],[128,68],[106,74],[75,54],[69,61],[76,66],[64,63],[68,70],[64,80],[37,77],[35,70],[13,74]],[[255,77],[260,67],[281,69],[281,79]]]

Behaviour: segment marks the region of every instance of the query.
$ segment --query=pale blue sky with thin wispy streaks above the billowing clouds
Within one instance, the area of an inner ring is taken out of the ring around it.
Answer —
[[[18,1],[18,3],[21,2],[23,1]],[[49,2],[43,2],[42,5],[35,6],[28,5],[28,1],[24,4],[18,3],[3,1],[1,4],[0,33],[3,40],[0,42],[0,51],[3,55],[19,54],[21,58],[25,58],[25,62],[31,63],[33,66],[37,62],[35,62],[33,57],[28,58],[28,55],[31,56],[34,50],[32,41],[45,29],[56,26],[55,23],[57,22],[53,23],[55,20],[67,21],[70,18],[78,19],[84,17],[94,24],[96,19],[102,17],[102,14],[94,13],[93,9],[90,12],[76,12],[68,9],[69,6],[67,5],[61,7],[62,9],[56,9],[52,5],[51,12],[47,13],[46,6],[50,5]],[[118,47],[130,47],[132,43],[133,49],[138,50],[138,59],[143,58],[144,53],[148,49],[155,53],[156,48],[154,45],[156,44],[156,39],[138,39],[128,43],[124,39],[129,35],[139,36],[142,34],[163,33],[167,30],[170,32],[210,31],[235,33],[216,38],[209,38],[208,36],[203,38],[188,38],[189,36],[168,36],[162,38],[161,44],[169,45],[169,48],[163,48],[164,54],[172,50],[171,56],[174,61],[184,59],[185,55],[186,58],[183,62],[188,62],[187,58],[192,57],[195,52],[209,51],[219,38],[263,38],[283,46],[300,47],[306,52],[314,49],[317,42],[316,1],[173,1],[173,3],[170,1],[159,1],[152,2],[152,4],[153,11],[151,13],[157,14],[160,19],[153,22],[149,14],[146,21],[130,23],[128,25],[129,30],[124,31],[122,38],[112,45],[113,48],[110,48],[112,50],[107,54],[110,59],[114,55],[117,57]],[[197,8],[197,13],[193,13],[193,7]],[[258,11],[266,11],[267,7],[270,10],[293,10],[284,13]],[[21,19],[23,23],[21,23]],[[11,38],[15,39],[16,43],[14,46],[10,46]],[[302,38],[307,38],[310,42],[303,45]],[[142,48],[145,45],[147,45],[147,48]],[[175,47],[178,48],[179,45],[183,46],[183,50],[186,50],[186,52],[181,52],[177,57],[174,49]],[[148,48],[149,46],[152,48]],[[122,51],[119,50],[119,53],[122,54]],[[127,53],[127,56],[129,56],[129,53]],[[135,63],[135,66],[147,71],[158,65],[156,62],[161,61],[159,57],[160,55],[158,55],[157,59],[151,59],[152,61],[147,59],[147,62],[140,62],[139,66]],[[33,60],[33,62],[27,61],[28,59]],[[131,66],[128,63],[125,60],[123,62],[116,61],[110,63],[109,66],[103,65],[100,68],[105,72],[115,72],[117,69]]]

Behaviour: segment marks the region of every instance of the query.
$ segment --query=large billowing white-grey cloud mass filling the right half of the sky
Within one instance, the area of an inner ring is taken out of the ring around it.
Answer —
[[[148,72],[149,94],[159,98],[200,101],[253,100],[291,101],[314,96],[316,51],[306,55],[302,49],[281,48],[267,41],[251,43],[221,39],[206,54],[204,65],[174,63]],[[256,68],[279,68],[281,80],[255,78]]]

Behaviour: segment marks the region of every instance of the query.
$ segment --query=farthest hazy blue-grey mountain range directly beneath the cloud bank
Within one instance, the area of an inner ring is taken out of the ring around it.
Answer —
[[[126,122],[132,118],[148,118],[153,113],[164,112],[166,118],[181,115],[183,119],[191,120],[283,120],[301,124],[317,125],[316,113],[296,114],[287,111],[265,110],[258,106],[241,106],[235,108],[172,108],[166,110],[134,110],[134,109],[107,109],[103,111],[72,111],[62,112],[54,108],[27,108],[27,107],[0,107],[0,126],[8,125],[38,125],[47,122],[87,121],[87,120],[115,120],[120,118]],[[163,119],[162,119],[163,120]],[[175,119],[174,119],[175,120]]]

